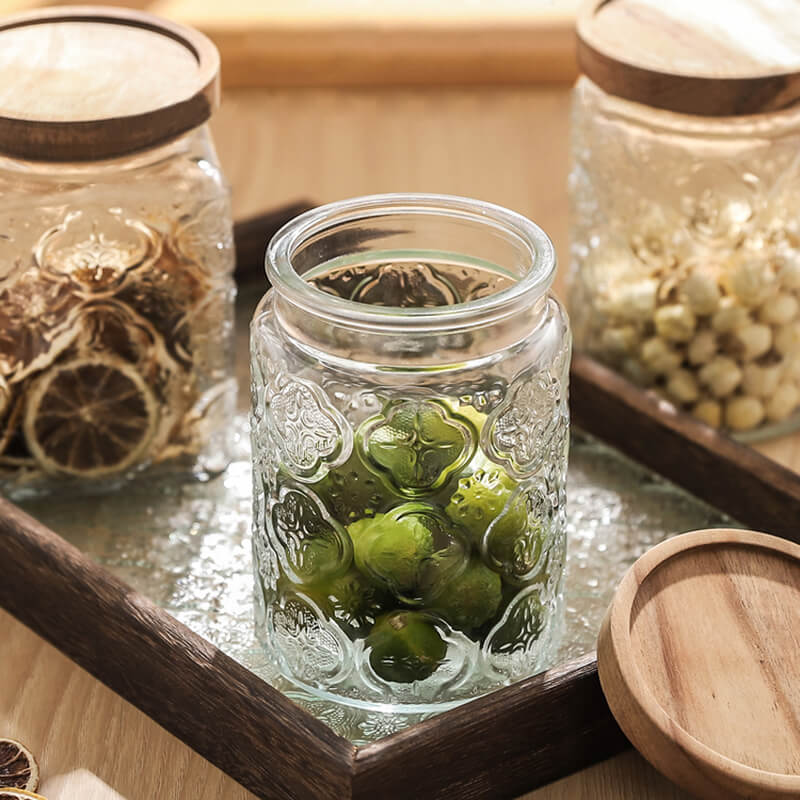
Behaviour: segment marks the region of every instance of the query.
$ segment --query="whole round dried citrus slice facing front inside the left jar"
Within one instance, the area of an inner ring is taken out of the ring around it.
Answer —
[[[158,404],[130,364],[108,355],[54,367],[31,386],[23,430],[49,473],[98,478],[140,461],[158,424]]]

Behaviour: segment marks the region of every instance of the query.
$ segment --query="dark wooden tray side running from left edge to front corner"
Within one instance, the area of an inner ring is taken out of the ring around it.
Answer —
[[[0,563],[0,605],[259,796],[349,795],[349,742],[5,500]]]

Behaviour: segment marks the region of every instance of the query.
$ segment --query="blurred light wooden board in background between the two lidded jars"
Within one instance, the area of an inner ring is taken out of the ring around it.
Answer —
[[[128,0],[127,5],[208,34],[222,55],[225,86],[242,88],[571,83],[577,74],[578,2]],[[44,4],[4,0],[0,10]]]

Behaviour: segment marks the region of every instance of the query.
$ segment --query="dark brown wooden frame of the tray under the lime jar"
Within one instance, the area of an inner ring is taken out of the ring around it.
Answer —
[[[302,204],[237,225],[240,275]],[[740,522],[800,540],[800,476],[599,364],[574,422]],[[0,605],[262,798],[514,797],[629,746],[594,655],[354,747],[57,533],[0,500]]]

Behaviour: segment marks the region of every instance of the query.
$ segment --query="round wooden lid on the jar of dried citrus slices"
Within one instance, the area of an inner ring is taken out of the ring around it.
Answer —
[[[0,19],[0,153],[115,158],[205,122],[219,104],[207,37],[140,11],[60,6]]]

